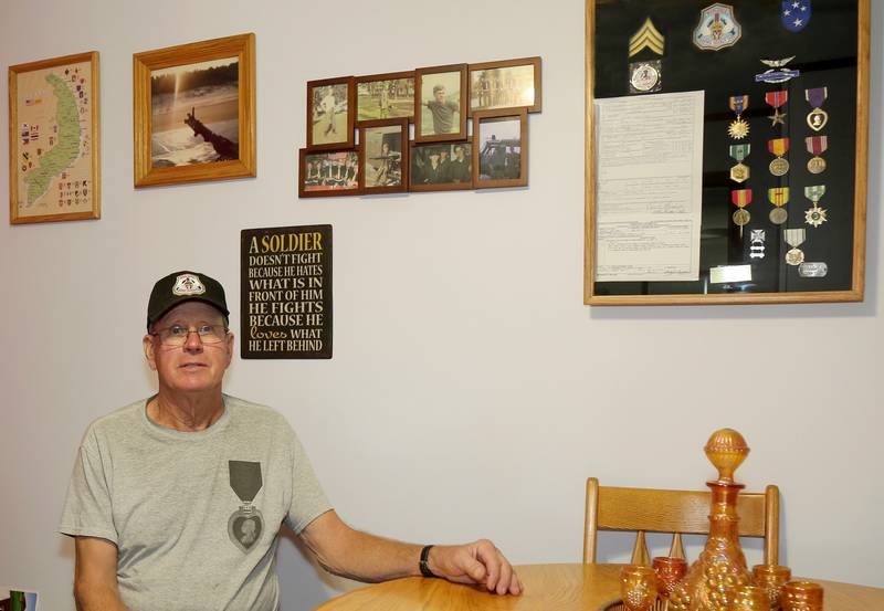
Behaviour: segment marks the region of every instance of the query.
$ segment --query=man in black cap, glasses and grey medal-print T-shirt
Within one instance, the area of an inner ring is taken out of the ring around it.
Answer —
[[[337,575],[520,592],[491,541],[421,547],[345,524],[286,420],[222,393],[228,315],[204,274],[154,286],[143,344],[159,390],[88,428],[67,492],[60,530],[75,537],[77,609],[274,611],[283,523]]]

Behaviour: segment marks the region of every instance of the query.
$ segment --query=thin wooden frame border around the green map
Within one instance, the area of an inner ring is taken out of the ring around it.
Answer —
[[[19,217],[19,162],[18,162],[18,76],[21,73],[45,70],[66,64],[78,64],[90,62],[92,70],[92,185],[93,204],[88,212],[43,214],[40,217]],[[99,74],[98,52],[90,51],[74,55],[64,55],[50,60],[41,60],[27,64],[9,66],[9,222],[10,224],[48,223],[55,221],[80,221],[86,219],[102,218],[102,134],[101,134],[101,74]]]

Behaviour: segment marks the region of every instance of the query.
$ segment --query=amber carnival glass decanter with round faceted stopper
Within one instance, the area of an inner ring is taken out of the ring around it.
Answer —
[[[718,470],[718,480],[706,482],[712,488],[709,538],[670,596],[670,611],[727,611],[737,588],[750,583],[737,515],[737,495],[745,486],[734,482],[734,472],[746,460],[749,446],[738,432],[722,429],[712,434],[704,450]]]

